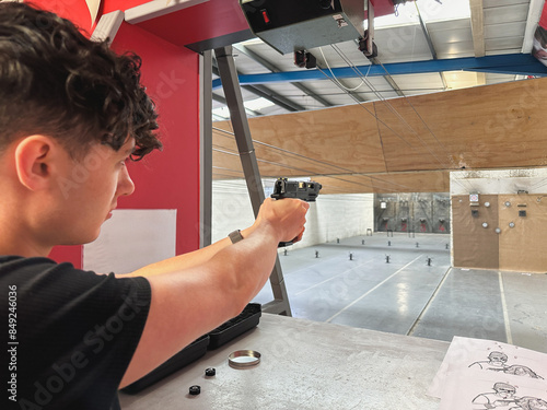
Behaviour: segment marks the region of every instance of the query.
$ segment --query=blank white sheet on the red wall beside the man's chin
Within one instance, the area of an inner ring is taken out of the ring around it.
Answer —
[[[128,273],[176,254],[176,210],[115,210],[83,247],[83,269]]]

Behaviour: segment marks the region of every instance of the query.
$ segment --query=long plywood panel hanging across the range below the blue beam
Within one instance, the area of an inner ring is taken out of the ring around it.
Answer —
[[[547,78],[257,117],[249,127],[264,176],[337,178],[346,192],[441,192],[450,171],[547,165],[546,101]],[[213,176],[242,177],[233,137],[217,130],[213,147]]]

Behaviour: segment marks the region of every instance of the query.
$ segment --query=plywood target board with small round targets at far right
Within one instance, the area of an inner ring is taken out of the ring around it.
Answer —
[[[455,267],[547,272],[547,196],[481,195],[478,207],[453,196],[452,222]]]

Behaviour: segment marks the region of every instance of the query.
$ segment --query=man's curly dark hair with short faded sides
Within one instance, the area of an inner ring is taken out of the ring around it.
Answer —
[[[70,21],[28,3],[0,3],[0,151],[33,133],[73,157],[92,143],[115,151],[132,137],[133,160],[161,149],[141,59],[88,39]]]

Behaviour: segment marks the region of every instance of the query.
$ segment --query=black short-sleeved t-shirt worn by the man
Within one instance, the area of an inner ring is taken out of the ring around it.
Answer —
[[[150,301],[144,278],[0,256],[0,408],[115,408]]]

